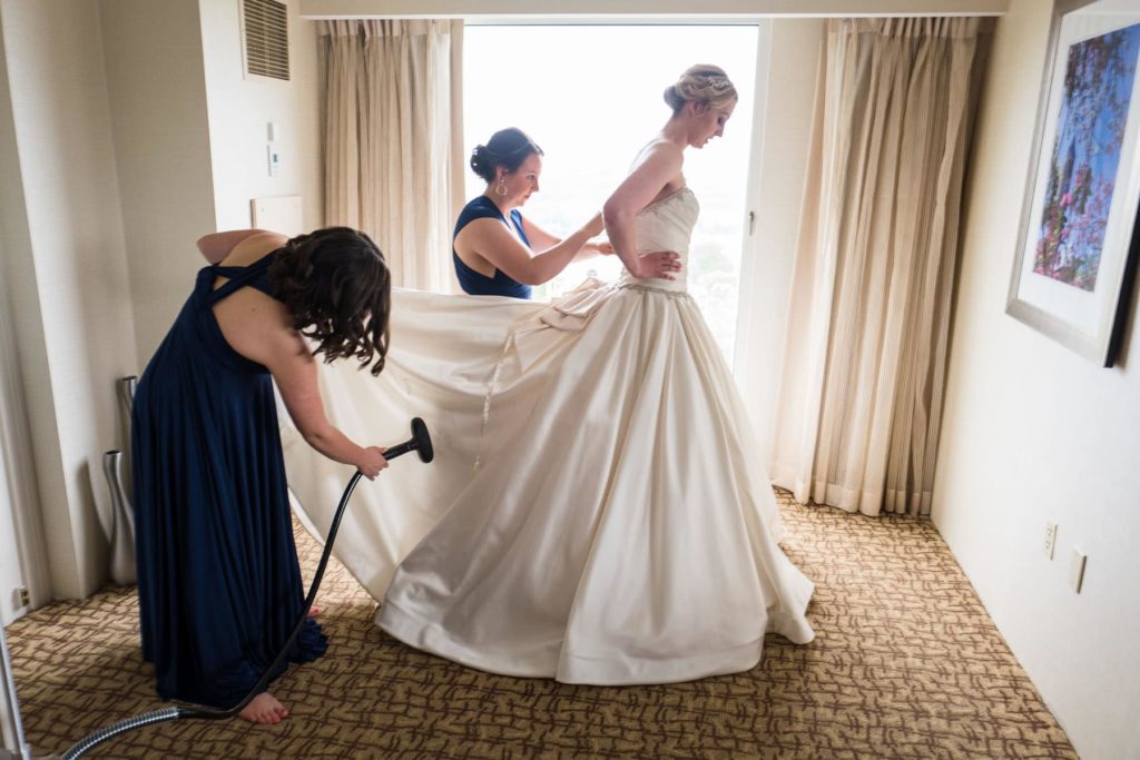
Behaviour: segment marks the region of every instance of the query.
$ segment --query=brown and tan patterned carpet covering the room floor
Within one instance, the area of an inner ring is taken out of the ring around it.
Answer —
[[[750,672],[627,688],[488,676],[373,627],[375,604],[333,563],[328,653],[274,687],[287,720],[168,722],[87,757],[1076,758],[929,522],[780,496],[817,638],[769,636]],[[308,577],[320,549],[303,531],[298,547]],[[8,638],[38,755],[162,706],[132,589],[39,610]]]

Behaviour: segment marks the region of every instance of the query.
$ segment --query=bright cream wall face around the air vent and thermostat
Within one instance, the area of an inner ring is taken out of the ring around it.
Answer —
[[[202,47],[210,115],[217,228],[250,227],[250,201],[300,195],[299,232],[321,226],[320,122],[316,22],[290,10],[290,81],[245,79],[241,8],[235,0],[201,0]],[[277,129],[282,169],[270,177],[267,125]]]

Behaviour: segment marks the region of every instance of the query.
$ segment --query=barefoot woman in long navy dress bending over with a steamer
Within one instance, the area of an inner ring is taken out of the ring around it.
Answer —
[[[229,708],[274,661],[304,602],[274,382],[314,449],[374,479],[384,449],[327,420],[304,338],[326,362],[353,359],[378,375],[391,286],[376,245],[344,227],[291,239],[218,232],[198,248],[211,265],[132,409],[139,618],[158,695]],[[288,660],[315,660],[325,646],[308,620]],[[259,724],[287,714],[269,693],[241,712]]]

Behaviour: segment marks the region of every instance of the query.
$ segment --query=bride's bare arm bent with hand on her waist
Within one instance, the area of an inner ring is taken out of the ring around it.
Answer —
[[[677,255],[667,255],[669,252],[637,255],[636,220],[637,213],[681,175],[681,148],[677,146],[671,142],[652,146],[602,207],[613,253],[621,259],[629,273],[640,279],[674,279],[668,272],[679,269],[674,263]]]

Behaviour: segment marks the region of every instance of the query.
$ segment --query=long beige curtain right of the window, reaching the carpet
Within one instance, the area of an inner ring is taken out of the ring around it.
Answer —
[[[772,474],[928,514],[969,137],[992,22],[829,22]]]

